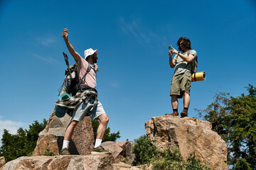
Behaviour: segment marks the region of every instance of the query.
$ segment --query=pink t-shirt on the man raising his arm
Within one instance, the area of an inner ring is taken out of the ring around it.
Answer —
[[[78,58],[78,77],[79,80],[82,79],[82,77],[84,76],[88,64],[90,64],[89,62],[87,62],[86,60],[84,60],[82,57]],[[93,66],[91,64],[92,69],[90,69],[90,72],[87,73],[86,77],[85,77],[85,84],[87,86],[90,86],[92,88],[96,88],[97,84],[96,84],[96,77],[97,74],[93,69]]]

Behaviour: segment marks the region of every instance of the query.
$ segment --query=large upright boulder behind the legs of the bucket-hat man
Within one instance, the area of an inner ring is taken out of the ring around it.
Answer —
[[[53,155],[58,155],[62,145],[66,128],[70,123],[71,117],[66,114],[63,118],[55,116],[55,109],[50,115],[46,128],[39,133],[36,148],[33,151],[34,156],[53,152]],[[90,117],[80,121],[74,130],[72,140],[70,141],[70,154],[87,155],[93,149],[94,137],[92,131],[92,123]]]

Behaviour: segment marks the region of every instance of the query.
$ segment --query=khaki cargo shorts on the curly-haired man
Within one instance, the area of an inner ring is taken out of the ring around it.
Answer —
[[[182,98],[183,91],[190,94],[191,89],[191,73],[185,72],[178,74],[171,79],[171,95],[176,95],[178,98]]]

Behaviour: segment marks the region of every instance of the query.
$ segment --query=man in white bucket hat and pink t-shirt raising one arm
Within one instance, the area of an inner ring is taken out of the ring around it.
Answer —
[[[98,69],[97,66],[97,52],[98,50],[92,50],[92,48],[89,48],[85,50],[83,59],[78,52],[74,50],[74,47],[71,45],[70,41],[68,40],[68,29],[65,28],[63,30],[63,38],[65,40],[65,44],[68,47],[68,50],[70,54],[73,56],[75,62],[78,64],[78,78],[79,80],[83,79],[82,81],[85,86],[89,86],[91,89],[96,88],[96,72]],[[90,69],[90,72],[87,72],[88,64],[92,67]],[[86,77],[84,77],[85,73]],[[96,90],[95,90],[96,91]],[[77,96],[77,95],[76,95]],[[97,96],[96,96],[97,98]],[[96,105],[95,105],[96,104]],[[92,106],[95,106],[92,110]],[[100,120],[100,125],[97,129],[97,137],[95,141],[95,147],[93,151],[95,152],[107,152],[103,147],[101,147],[102,139],[105,134],[105,130],[107,128],[107,123],[109,121],[109,118],[107,114],[105,113],[102,104],[100,101],[95,102],[95,97],[90,97],[90,101],[82,102],[80,103],[75,110],[73,111],[73,116],[70,125],[68,125],[67,130],[65,131],[64,140],[63,140],[63,149],[61,150],[60,154],[69,154],[68,152],[68,143],[71,139],[71,136],[73,135],[73,130],[75,129],[75,126],[78,125],[79,121],[84,118],[84,116],[88,114],[92,119],[98,119]]]

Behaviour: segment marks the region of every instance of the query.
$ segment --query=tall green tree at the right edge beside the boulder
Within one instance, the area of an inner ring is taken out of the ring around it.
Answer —
[[[220,93],[208,108],[197,110],[228,143],[228,164],[233,169],[256,167],[256,88],[250,84],[246,88],[248,95]]]

